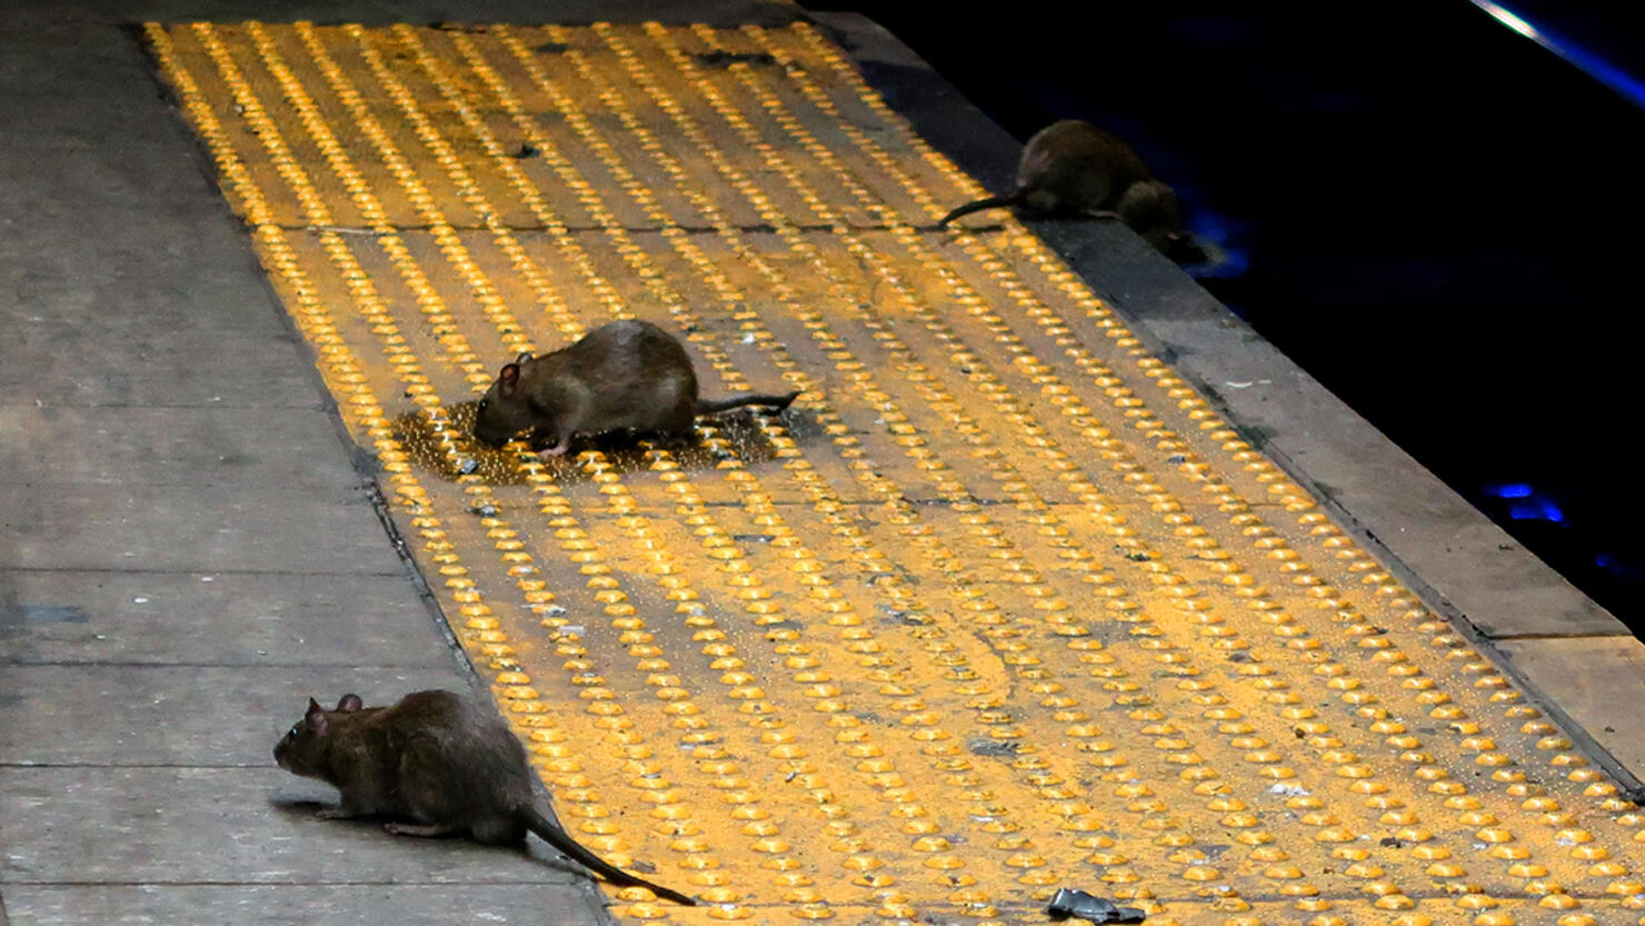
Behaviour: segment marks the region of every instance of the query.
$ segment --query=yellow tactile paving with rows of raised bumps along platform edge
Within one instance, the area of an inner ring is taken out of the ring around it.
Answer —
[[[1033,235],[931,232],[979,186],[814,30],[146,35],[563,819],[711,901],[625,919],[1645,921],[1645,814]],[[804,396],[469,444],[612,317]]]

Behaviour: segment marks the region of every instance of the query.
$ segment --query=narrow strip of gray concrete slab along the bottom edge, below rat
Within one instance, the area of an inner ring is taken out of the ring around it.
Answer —
[[[495,926],[592,921],[604,903],[582,885],[13,885],[18,926],[222,926],[268,923],[378,923]],[[461,911],[461,913],[457,913]]]

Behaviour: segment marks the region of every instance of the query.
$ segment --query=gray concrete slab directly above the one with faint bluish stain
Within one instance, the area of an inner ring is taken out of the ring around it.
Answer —
[[[8,493],[0,567],[405,574],[359,488],[79,482]]]

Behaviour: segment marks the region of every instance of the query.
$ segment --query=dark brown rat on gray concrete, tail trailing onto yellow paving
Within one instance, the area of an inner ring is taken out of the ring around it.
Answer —
[[[275,745],[275,762],[342,791],[342,803],[317,811],[319,819],[400,816],[418,822],[383,829],[467,832],[485,844],[525,842],[530,831],[612,883],[697,903],[602,860],[538,813],[525,747],[502,717],[470,697],[416,691],[390,707],[365,707],[359,694],[344,694],[336,711],[309,697],[308,712]]]

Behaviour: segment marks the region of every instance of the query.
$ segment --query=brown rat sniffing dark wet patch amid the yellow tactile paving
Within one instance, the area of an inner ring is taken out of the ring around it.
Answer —
[[[559,456],[574,434],[628,428],[683,438],[697,414],[744,405],[781,411],[798,395],[697,398],[691,357],[674,336],[645,321],[614,321],[571,347],[503,365],[475,410],[474,438],[500,447],[530,429],[531,449]]]

